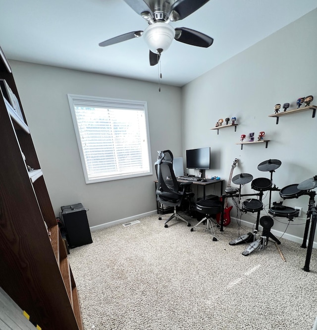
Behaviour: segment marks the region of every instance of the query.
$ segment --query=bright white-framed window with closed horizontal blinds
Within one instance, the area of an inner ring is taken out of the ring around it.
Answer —
[[[68,94],[86,183],[151,175],[147,103]]]

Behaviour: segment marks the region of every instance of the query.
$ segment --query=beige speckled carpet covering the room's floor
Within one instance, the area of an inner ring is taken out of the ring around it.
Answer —
[[[306,249],[283,238],[286,262],[272,241],[243,256],[246,244],[228,244],[234,222],[213,241],[184,222],[139,220],[93,232],[92,244],[70,250],[85,330],[312,330],[315,249],[307,273]]]

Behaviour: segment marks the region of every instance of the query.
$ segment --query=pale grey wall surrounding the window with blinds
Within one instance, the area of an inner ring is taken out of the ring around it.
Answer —
[[[60,206],[82,203],[90,226],[156,210],[153,175],[86,184],[67,93],[148,103],[152,162],[157,151],[182,156],[178,87],[10,61],[56,216]],[[168,120],[166,120],[168,118]],[[31,165],[31,164],[30,164]]]

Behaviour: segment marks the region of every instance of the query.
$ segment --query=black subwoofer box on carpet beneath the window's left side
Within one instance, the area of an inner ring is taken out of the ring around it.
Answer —
[[[87,219],[87,209],[81,203],[61,206],[61,216],[70,248],[93,242]]]

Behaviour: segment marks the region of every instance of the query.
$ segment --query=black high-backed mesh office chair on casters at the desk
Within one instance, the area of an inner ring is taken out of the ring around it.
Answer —
[[[191,224],[177,213],[177,208],[194,196],[194,193],[187,191],[188,186],[193,182],[177,182],[173,170],[173,154],[169,150],[158,153],[158,161],[155,163],[158,177],[157,200],[162,205],[174,207],[174,213],[164,222],[164,227],[167,228],[167,222],[173,218],[184,221],[190,227]]]

